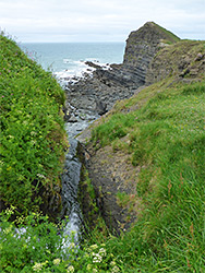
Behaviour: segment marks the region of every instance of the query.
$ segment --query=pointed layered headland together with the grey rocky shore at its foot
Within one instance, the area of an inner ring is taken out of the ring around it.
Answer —
[[[97,67],[92,76],[67,86],[68,100],[74,107],[69,108],[70,112],[75,115],[76,109],[84,109],[102,115],[117,100],[131,97],[145,84],[148,66],[156,52],[178,40],[177,36],[153,22],[132,32],[122,64],[111,64],[108,70]]]

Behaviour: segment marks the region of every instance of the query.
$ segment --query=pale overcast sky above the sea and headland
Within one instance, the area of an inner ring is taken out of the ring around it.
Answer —
[[[147,21],[205,39],[205,0],[0,0],[0,27],[19,41],[125,41]]]

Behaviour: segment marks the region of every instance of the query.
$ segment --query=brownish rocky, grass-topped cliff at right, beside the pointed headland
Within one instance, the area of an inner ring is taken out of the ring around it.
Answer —
[[[205,71],[204,46],[203,41],[183,40],[161,49],[149,64],[146,85],[167,76],[184,81],[200,79]]]

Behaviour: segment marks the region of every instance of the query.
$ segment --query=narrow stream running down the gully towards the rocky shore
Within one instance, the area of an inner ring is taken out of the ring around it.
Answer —
[[[68,248],[71,242],[79,245],[81,237],[81,226],[83,215],[80,203],[77,202],[79,182],[81,177],[81,162],[76,156],[79,141],[75,136],[82,132],[92,121],[98,118],[92,114],[85,114],[84,120],[77,117],[77,122],[67,122],[65,130],[69,139],[69,152],[65,155],[64,173],[62,174],[62,206],[63,214],[68,216],[69,222],[63,230],[63,245]]]

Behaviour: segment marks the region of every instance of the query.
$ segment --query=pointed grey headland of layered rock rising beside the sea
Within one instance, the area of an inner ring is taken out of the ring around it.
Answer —
[[[126,40],[122,68],[124,75],[129,74],[135,86],[143,85],[149,62],[157,51],[178,40],[176,35],[154,22],[148,22],[138,31],[132,32]]]

